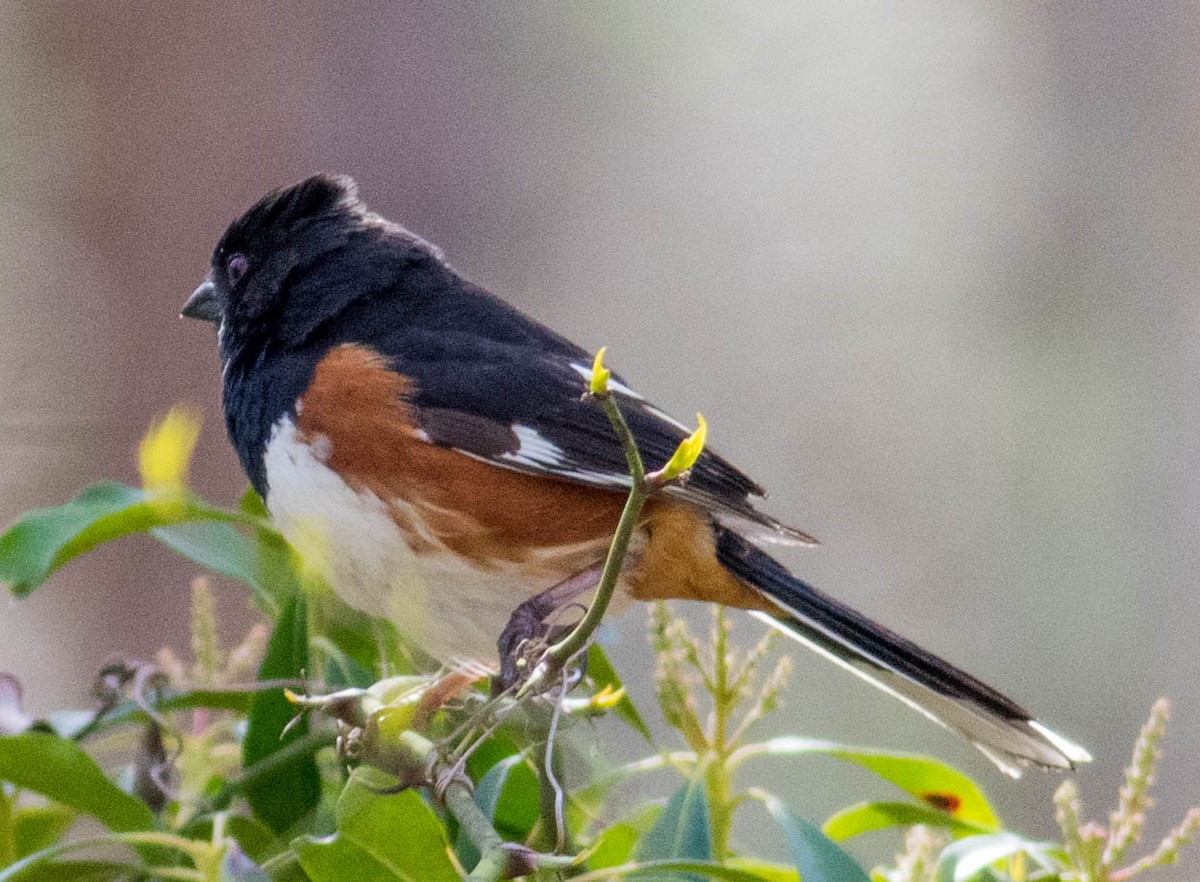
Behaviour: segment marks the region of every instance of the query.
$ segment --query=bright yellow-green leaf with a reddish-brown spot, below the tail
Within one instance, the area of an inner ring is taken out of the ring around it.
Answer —
[[[785,736],[743,748],[746,756],[796,756],[820,754],[860,766],[926,805],[949,812],[959,821],[998,830],[1000,818],[983,791],[958,769],[928,756],[884,750],[847,748],[833,742]]]

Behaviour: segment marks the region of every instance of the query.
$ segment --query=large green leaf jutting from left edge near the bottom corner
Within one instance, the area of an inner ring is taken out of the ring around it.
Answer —
[[[154,815],[104,776],[78,744],[43,732],[0,737],[0,780],[91,815],[112,830],[145,830]]]

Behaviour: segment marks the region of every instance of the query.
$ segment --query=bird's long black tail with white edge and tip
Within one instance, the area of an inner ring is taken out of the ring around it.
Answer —
[[[737,533],[716,528],[716,558],[779,606],[780,616],[761,613],[764,620],[966,736],[1014,778],[1028,763],[1070,769],[1092,758],[991,686],[798,580]]]

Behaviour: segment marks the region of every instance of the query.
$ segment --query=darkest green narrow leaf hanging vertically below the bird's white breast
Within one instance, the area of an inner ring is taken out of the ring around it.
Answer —
[[[304,594],[296,593],[284,607],[266,647],[258,671],[262,680],[300,677],[308,667],[308,628]],[[258,692],[250,709],[242,766],[251,769],[272,754],[308,733],[308,720],[299,720],[287,734],[284,727],[296,709],[283,690]],[[320,802],[320,772],[312,754],[282,763],[246,786],[246,799],[254,815],[276,833],[283,833]]]

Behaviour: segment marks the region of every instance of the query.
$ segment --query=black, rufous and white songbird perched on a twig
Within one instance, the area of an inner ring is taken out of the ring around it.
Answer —
[[[182,316],[217,329],[229,439],[281,533],[320,536],[350,606],[433,658],[496,660],[520,610],[594,588],[631,487],[592,355],[468,281],[443,252],[319,174],[236,218]],[[648,463],[689,427],[613,373]],[[1091,756],[1021,706],[770,556],[815,540],[704,449],[643,509],[614,606],[750,611],[973,743],[1001,770]]]

